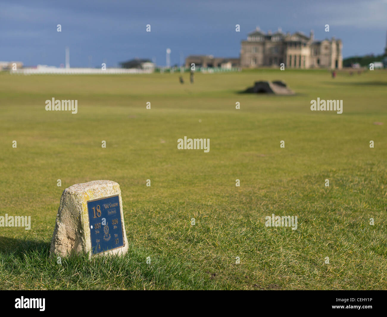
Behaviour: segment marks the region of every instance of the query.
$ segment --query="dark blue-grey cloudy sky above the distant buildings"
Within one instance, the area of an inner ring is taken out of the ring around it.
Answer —
[[[240,41],[256,26],[313,29],[316,39],[342,39],[344,57],[376,55],[386,45],[387,0],[0,0],[0,61],[59,66],[65,46],[72,67],[114,67],[135,57],[165,65],[168,47],[172,65],[194,54],[238,57]]]

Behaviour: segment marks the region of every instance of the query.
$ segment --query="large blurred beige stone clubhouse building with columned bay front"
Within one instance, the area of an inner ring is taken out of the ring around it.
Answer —
[[[279,67],[281,63],[289,68],[342,69],[342,43],[340,39],[316,41],[313,31],[310,36],[297,32],[284,34],[262,32],[258,27],[242,41],[241,67]]]

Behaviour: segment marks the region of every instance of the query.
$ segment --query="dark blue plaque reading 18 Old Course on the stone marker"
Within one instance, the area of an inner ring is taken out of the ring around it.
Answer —
[[[87,202],[92,254],[123,247],[118,195]]]

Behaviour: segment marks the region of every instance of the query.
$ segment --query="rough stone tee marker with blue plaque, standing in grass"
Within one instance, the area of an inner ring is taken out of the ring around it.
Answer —
[[[120,185],[111,180],[75,184],[63,191],[51,240],[51,256],[128,250]]]

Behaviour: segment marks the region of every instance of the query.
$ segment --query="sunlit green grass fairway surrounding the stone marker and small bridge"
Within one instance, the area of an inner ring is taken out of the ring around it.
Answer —
[[[32,222],[0,227],[0,289],[386,290],[387,72],[179,76],[0,74],[0,216]],[[276,79],[296,95],[238,93]],[[343,113],[311,111],[318,97]],[[184,136],[209,153],[178,150]],[[100,179],[120,184],[129,251],[59,265],[61,194]],[[266,227],[272,213],[298,229]]]

